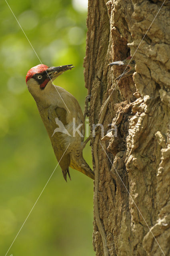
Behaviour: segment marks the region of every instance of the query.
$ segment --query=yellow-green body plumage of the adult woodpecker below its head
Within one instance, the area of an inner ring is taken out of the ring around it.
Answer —
[[[64,179],[66,180],[67,174],[70,177],[69,166],[94,179],[94,172],[82,155],[85,126],[78,101],[65,89],[54,86],[51,81],[41,90],[34,80],[30,80],[27,82],[28,90],[36,101]],[[55,132],[58,128],[56,118],[62,122],[68,134]],[[73,136],[73,120],[75,120],[76,127],[82,124],[79,129],[82,137],[77,132]]]

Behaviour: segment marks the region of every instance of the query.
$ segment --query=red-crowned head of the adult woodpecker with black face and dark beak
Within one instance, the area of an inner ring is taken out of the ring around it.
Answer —
[[[44,90],[48,85],[52,84],[60,74],[66,70],[72,69],[72,65],[64,65],[58,67],[48,67],[46,65],[40,64],[31,68],[26,74],[26,84],[28,90],[34,94],[38,91]]]

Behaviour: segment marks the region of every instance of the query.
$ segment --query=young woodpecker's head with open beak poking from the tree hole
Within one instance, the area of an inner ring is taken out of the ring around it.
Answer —
[[[116,77],[115,80],[120,80],[126,76],[131,76],[136,70],[135,70],[135,60],[131,60],[131,56],[128,56],[128,58],[126,58],[125,60],[119,60],[119,61],[115,61],[112,62],[110,64],[108,64],[108,66],[113,66],[113,65],[124,65],[124,66],[128,66],[129,69],[126,72],[123,72],[120,76]]]

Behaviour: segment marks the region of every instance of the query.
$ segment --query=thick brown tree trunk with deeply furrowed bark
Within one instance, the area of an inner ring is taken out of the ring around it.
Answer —
[[[162,4],[88,3],[89,121],[91,131],[104,126],[91,142],[97,256],[170,255],[170,2]],[[108,64],[134,53],[136,72],[116,85],[125,67]],[[106,135],[108,124],[117,136]]]

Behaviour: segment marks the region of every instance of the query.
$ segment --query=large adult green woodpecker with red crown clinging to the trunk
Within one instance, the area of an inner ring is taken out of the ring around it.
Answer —
[[[64,179],[70,178],[69,166],[94,179],[94,172],[83,158],[84,116],[78,101],[64,88],[53,84],[60,74],[72,65],[48,67],[40,64],[26,75],[29,92],[50,137]]]

